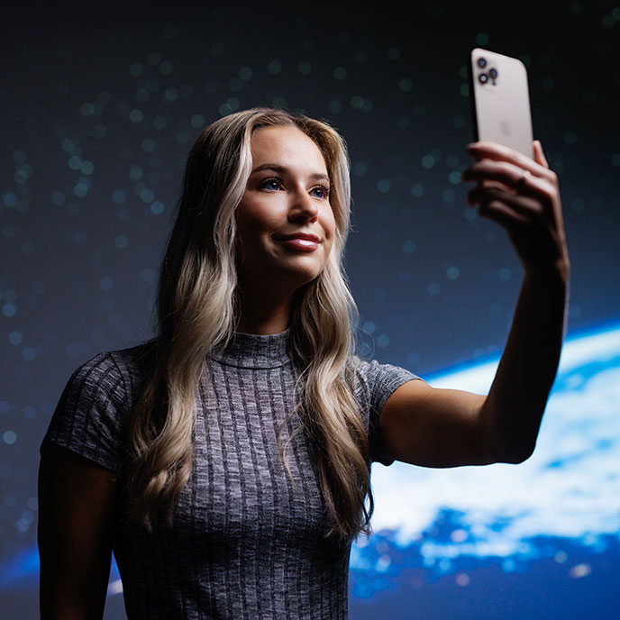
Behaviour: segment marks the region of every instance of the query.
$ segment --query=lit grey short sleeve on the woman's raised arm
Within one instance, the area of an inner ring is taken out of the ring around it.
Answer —
[[[393,460],[381,460],[377,454],[378,418],[381,409],[398,387],[407,381],[420,378],[409,370],[392,364],[380,364],[377,360],[354,358],[353,362],[356,375],[355,396],[360,403],[363,421],[369,434],[370,460],[390,465]]]

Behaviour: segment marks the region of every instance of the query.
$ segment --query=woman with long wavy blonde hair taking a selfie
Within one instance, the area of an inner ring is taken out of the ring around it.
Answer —
[[[129,618],[346,617],[372,460],[526,459],[569,274],[557,180],[533,148],[535,160],[468,148],[470,204],[506,228],[525,269],[481,397],[351,355],[349,171],[333,129],[268,108],[207,127],[161,269],[157,338],[78,369],[43,442],[42,616],[100,617],[114,549]]]

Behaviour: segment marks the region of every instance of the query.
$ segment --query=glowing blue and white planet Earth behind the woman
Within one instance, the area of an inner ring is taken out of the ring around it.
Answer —
[[[497,362],[427,380],[484,393]],[[615,618],[620,325],[567,340],[536,449],[524,463],[375,464],[372,486],[374,533],[351,550],[352,619]],[[34,596],[36,548],[3,564],[0,590],[31,588]],[[108,620],[124,617],[120,592],[113,566]]]

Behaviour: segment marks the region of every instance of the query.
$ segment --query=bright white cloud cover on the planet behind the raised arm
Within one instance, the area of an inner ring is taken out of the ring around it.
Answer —
[[[620,532],[620,330],[570,342],[562,360],[529,460],[454,470],[376,465],[375,531],[411,543],[442,509],[462,512],[467,539],[451,550],[440,544],[444,556],[531,550],[525,542],[539,535],[592,544]],[[431,382],[484,392],[494,370],[488,363]]]

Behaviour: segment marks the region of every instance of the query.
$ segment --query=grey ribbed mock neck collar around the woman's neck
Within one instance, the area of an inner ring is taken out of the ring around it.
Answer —
[[[246,369],[270,369],[290,360],[288,330],[268,336],[235,332],[225,349],[211,357],[226,366]]]

